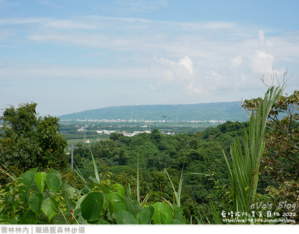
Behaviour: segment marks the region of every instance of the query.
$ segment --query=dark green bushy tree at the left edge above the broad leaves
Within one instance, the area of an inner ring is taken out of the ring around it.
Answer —
[[[59,134],[59,118],[38,117],[36,106],[26,103],[4,110],[0,117],[0,162],[6,168],[63,170],[67,166],[67,140]]]

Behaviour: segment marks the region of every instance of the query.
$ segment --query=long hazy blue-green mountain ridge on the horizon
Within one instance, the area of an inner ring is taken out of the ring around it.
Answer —
[[[248,116],[240,102],[200,103],[185,105],[137,105],[106,107],[60,116],[71,119],[143,119],[143,120],[230,120],[246,121]],[[163,117],[166,116],[166,117]]]

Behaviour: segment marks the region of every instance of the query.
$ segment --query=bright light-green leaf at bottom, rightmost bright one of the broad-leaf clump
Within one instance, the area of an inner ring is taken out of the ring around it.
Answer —
[[[161,202],[156,202],[152,206],[154,208],[152,217],[153,223],[169,225],[172,215],[171,208],[167,204]]]

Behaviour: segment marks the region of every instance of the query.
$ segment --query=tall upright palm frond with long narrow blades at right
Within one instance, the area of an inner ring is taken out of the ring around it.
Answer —
[[[250,206],[257,191],[261,158],[265,149],[264,138],[267,119],[281,92],[279,88],[269,89],[265,94],[264,101],[258,105],[256,113],[252,112],[249,134],[246,130],[243,133],[244,154],[238,137],[231,144],[232,169],[223,152],[233,191],[235,211],[250,213]]]

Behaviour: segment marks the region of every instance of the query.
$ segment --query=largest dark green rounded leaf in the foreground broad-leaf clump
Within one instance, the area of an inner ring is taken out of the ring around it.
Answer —
[[[91,192],[81,202],[81,214],[87,221],[95,221],[103,210],[104,196],[101,192]]]

